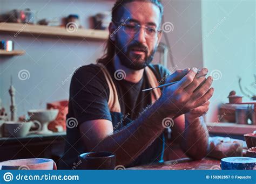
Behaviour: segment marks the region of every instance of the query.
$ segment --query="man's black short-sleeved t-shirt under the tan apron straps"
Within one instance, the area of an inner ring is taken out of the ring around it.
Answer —
[[[153,73],[160,81],[169,74],[169,70],[161,65],[149,65]],[[113,124],[113,130],[122,129],[127,123],[132,123],[151,105],[150,88],[146,72],[137,83],[114,78],[114,66],[110,62],[106,66],[116,86],[121,113],[110,112],[108,107],[109,86],[102,70],[96,65],[80,67],[74,73],[70,84],[69,112],[66,119],[76,118],[78,126],[69,128],[67,126],[67,140],[65,153],[62,157],[62,169],[70,169],[76,163],[79,154],[88,152],[86,144],[83,143],[79,133],[79,125],[93,119],[108,119]],[[139,157],[130,165],[143,165],[159,161],[163,157],[163,138],[157,138]],[[136,145],[134,145],[136,146]]]

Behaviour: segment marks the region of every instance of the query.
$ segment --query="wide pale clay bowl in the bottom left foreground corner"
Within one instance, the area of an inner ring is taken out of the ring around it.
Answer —
[[[57,170],[56,163],[52,159],[33,158],[18,159],[0,162],[2,170]]]

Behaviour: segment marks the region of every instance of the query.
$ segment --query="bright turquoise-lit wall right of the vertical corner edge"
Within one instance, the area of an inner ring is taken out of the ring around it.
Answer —
[[[215,70],[215,88],[207,120],[217,119],[217,108],[227,103],[231,90],[242,95],[242,85],[254,91],[251,83],[256,74],[255,62],[255,1],[202,1],[204,66]],[[244,98],[243,101],[250,99]]]

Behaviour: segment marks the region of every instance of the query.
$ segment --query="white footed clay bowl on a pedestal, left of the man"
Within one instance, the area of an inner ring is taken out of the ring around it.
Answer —
[[[52,131],[48,130],[48,124],[55,120],[58,115],[58,109],[37,109],[29,110],[28,114],[32,121],[39,121],[42,124],[42,130],[37,132],[38,134],[45,135],[51,134]]]

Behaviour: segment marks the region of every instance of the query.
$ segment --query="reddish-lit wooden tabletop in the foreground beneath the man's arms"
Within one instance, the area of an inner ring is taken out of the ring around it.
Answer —
[[[183,158],[165,161],[163,163],[150,164],[127,168],[129,170],[219,170],[220,160],[205,158],[203,160],[191,160]]]

